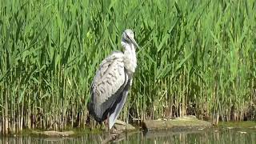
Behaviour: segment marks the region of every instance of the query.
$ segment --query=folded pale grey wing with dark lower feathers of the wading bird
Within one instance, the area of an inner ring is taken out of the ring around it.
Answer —
[[[106,119],[118,96],[126,86],[128,76],[125,73],[122,52],[114,52],[104,59],[91,86],[94,118],[98,122]]]

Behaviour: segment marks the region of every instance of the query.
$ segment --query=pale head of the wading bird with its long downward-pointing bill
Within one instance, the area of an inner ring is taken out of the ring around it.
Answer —
[[[134,44],[134,46],[138,47],[137,42],[134,40],[133,30],[127,29],[122,33],[122,44]]]

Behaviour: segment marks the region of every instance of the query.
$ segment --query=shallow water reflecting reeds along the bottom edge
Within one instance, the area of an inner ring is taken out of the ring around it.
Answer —
[[[1,137],[0,143],[4,144],[74,144],[74,143],[100,143],[105,134],[82,134],[66,138],[39,138],[32,136]],[[256,128],[211,128],[206,130],[188,131],[158,131],[143,134],[137,132],[124,134],[115,143],[256,143]]]

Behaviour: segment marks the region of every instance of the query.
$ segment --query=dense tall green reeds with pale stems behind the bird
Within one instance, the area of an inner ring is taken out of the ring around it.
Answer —
[[[256,3],[36,1],[0,5],[0,129],[86,126],[99,63],[141,46],[121,119],[256,117]]]

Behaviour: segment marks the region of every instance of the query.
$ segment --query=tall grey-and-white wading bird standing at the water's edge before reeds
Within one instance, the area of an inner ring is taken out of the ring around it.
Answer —
[[[109,130],[126,102],[137,67],[138,44],[132,30],[122,33],[121,44],[123,52],[115,51],[102,61],[90,87],[89,114],[100,123],[108,119]]]

